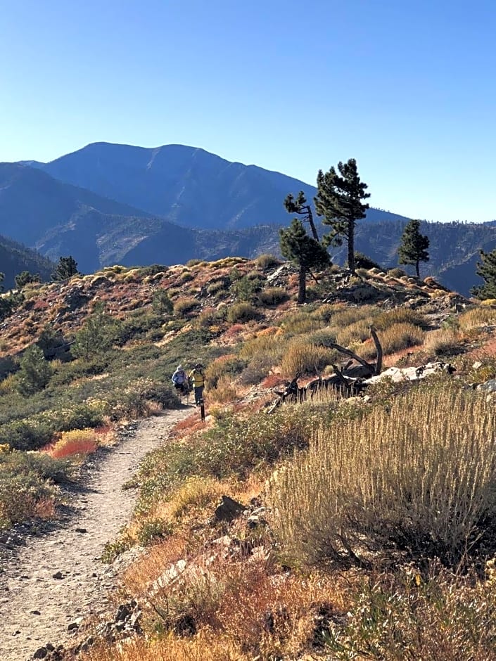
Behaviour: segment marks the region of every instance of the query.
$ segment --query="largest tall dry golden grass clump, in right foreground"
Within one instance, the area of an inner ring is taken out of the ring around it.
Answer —
[[[495,513],[495,446],[492,406],[478,394],[415,390],[317,431],[269,482],[274,530],[310,564],[392,542],[457,561]]]

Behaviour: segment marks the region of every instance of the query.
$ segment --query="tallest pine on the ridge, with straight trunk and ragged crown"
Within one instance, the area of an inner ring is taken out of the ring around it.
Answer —
[[[319,170],[317,174],[317,195],[314,198],[315,210],[323,216],[324,225],[331,226],[331,231],[324,237],[327,245],[343,245],[348,242],[348,268],[355,272],[355,224],[366,216],[369,208],[362,203],[370,197],[366,193],[367,184],[360,180],[357,162],[350,158],[348,162],[338,162],[338,172],[334,167],[329,172]]]

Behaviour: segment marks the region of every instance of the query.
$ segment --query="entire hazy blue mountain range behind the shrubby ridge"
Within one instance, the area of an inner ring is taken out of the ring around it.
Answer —
[[[141,148],[93,143],[49,163],[0,163],[0,234],[82,271],[117,262],[177,264],[279,250],[279,226],[291,217],[288,193],[317,189],[255,165],[199,148]],[[371,208],[357,227],[357,250],[386,266],[407,218]],[[496,245],[496,226],[426,224],[426,274],[468,293],[478,250]],[[333,255],[343,262],[343,250]],[[5,270],[0,262],[0,270]]]

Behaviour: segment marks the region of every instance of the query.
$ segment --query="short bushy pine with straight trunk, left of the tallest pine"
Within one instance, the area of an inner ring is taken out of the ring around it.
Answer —
[[[307,271],[326,267],[331,261],[326,248],[308,236],[303,222],[294,218],[288,229],[279,230],[281,253],[300,269],[298,303],[307,298]]]

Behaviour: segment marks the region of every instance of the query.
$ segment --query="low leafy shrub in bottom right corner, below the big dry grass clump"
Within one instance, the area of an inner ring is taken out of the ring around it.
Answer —
[[[409,565],[362,579],[344,626],[331,625],[324,633],[331,657],[492,659],[496,598],[490,573],[488,581],[460,579],[439,567],[431,573]]]

